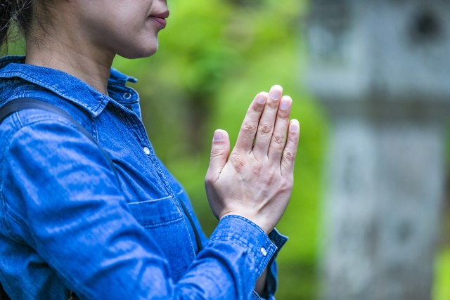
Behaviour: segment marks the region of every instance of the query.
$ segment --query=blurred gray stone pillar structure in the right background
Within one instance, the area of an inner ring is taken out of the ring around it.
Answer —
[[[308,84],[332,121],[326,300],[428,300],[444,201],[450,1],[313,0]]]

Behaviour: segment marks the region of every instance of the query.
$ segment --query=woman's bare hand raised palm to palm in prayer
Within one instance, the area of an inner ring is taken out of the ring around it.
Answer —
[[[231,152],[226,131],[217,130],[212,142],[205,186],[217,219],[238,215],[267,234],[288,206],[300,124],[289,121],[292,99],[281,86],[253,100],[238,141]]]

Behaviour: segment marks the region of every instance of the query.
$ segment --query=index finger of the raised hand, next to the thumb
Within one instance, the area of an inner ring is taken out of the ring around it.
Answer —
[[[244,122],[240,127],[238,141],[236,141],[235,150],[245,153],[250,153],[253,148],[253,141],[255,141],[256,131],[258,129],[259,119],[261,119],[264,105],[266,104],[266,92],[257,94],[255,100],[248,108],[247,115],[245,115]]]

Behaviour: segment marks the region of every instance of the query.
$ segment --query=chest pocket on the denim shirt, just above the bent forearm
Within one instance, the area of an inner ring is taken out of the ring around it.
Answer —
[[[128,203],[136,221],[153,237],[169,262],[172,280],[177,282],[195,259],[184,214],[173,197]]]

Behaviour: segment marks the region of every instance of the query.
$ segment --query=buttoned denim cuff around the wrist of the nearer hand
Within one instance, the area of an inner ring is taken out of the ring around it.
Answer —
[[[275,238],[277,240],[278,237]],[[274,241],[275,241],[274,240]],[[255,263],[256,276],[259,277],[271,261],[278,247],[259,226],[242,216],[225,216],[212,233],[208,243],[230,241],[248,250]]]

